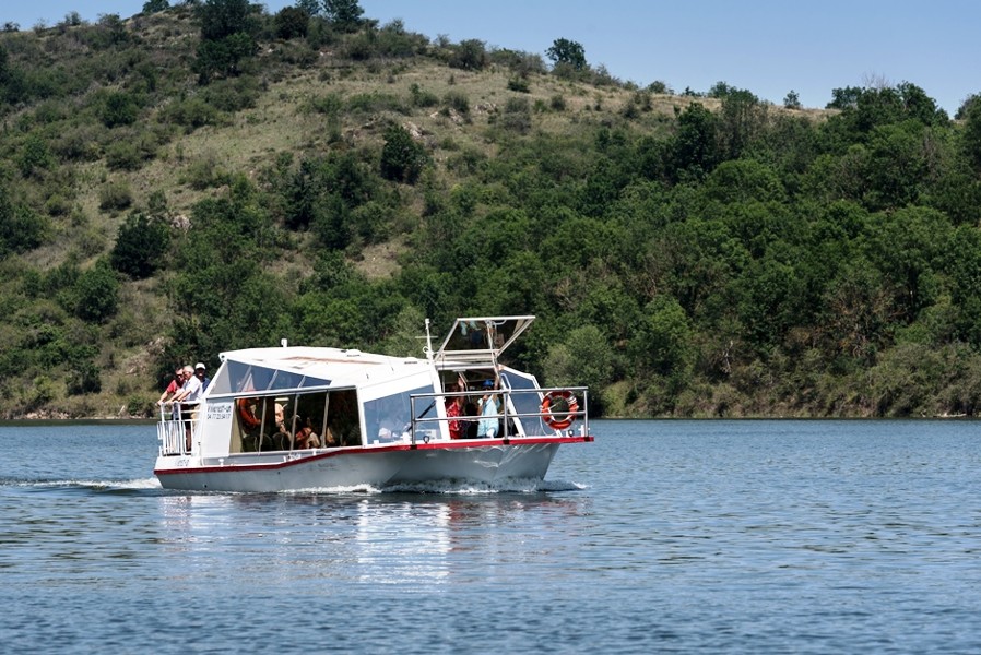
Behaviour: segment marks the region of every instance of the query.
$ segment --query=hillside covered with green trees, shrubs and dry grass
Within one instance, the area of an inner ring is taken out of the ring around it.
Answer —
[[[418,353],[534,313],[608,416],[981,410],[981,103],[784,107],[380,26],[146,2],[0,34],[0,416],[146,416],[175,364]]]

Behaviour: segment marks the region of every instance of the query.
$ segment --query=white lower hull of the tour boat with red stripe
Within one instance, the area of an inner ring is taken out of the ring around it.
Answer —
[[[430,481],[494,484],[542,479],[563,443],[591,437],[454,441],[253,454],[217,458],[162,456],[154,474],[165,489],[272,492]]]

